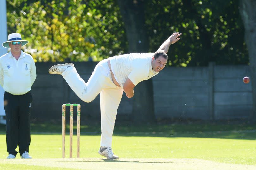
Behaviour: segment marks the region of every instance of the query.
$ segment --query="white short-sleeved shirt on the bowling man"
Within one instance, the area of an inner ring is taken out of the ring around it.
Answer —
[[[137,85],[158,74],[152,69],[153,56],[154,53],[131,53],[110,57],[111,69],[119,85],[123,88],[127,78]]]

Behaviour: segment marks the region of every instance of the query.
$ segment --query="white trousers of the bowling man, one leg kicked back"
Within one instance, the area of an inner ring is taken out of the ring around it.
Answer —
[[[117,108],[123,90],[113,83],[107,59],[96,65],[87,83],[81,79],[73,66],[66,68],[61,75],[84,102],[91,102],[101,93],[101,146],[111,147]]]

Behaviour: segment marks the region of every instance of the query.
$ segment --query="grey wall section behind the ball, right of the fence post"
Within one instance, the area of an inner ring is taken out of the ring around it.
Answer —
[[[250,77],[249,67],[215,66],[214,72],[215,118],[247,118],[252,114],[252,86],[242,81]]]

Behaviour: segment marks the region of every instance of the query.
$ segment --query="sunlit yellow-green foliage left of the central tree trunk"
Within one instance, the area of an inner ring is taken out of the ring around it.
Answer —
[[[20,32],[39,62],[97,61],[125,50],[113,1],[16,0],[7,5],[8,33]]]

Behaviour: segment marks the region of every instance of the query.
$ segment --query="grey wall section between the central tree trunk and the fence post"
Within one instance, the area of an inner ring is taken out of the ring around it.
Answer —
[[[153,86],[157,118],[210,119],[207,67],[165,68]]]

